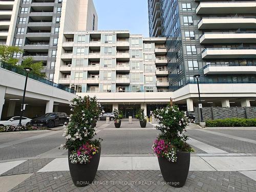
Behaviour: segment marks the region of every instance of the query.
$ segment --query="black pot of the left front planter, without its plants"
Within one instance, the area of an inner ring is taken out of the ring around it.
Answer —
[[[99,165],[100,151],[101,146],[99,146],[99,152],[93,155],[93,158],[91,159],[90,163],[71,163],[69,159],[70,175],[75,186],[84,187],[93,182]],[[70,151],[68,154],[70,157]]]

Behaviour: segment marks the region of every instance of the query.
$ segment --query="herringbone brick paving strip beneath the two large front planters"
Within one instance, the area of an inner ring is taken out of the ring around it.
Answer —
[[[74,186],[69,172],[35,173],[12,191],[256,191],[256,181],[239,172],[189,172],[186,184],[164,184],[158,170],[98,171],[94,183]]]

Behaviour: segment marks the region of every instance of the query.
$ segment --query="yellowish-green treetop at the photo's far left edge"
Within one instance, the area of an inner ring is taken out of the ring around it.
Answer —
[[[23,50],[15,46],[0,45],[0,60],[10,65],[16,65],[17,58],[13,58],[14,53],[23,53]]]

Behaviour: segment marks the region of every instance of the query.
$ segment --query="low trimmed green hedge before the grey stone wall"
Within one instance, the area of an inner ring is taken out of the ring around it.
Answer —
[[[227,119],[215,119],[207,120],[206,126],[256,126],[256,118],[245,119],[245,118],[227,118]]]

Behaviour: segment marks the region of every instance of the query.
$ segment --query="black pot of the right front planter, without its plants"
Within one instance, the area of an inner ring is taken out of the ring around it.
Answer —
[[[166,184],[173,187],[184,186],[190,164],[190,153],[177,152],[177,162],[169,162],[164,157],[158,157],[158,162]]]

